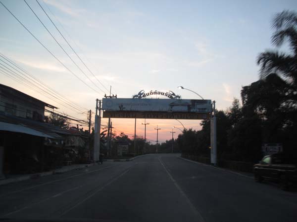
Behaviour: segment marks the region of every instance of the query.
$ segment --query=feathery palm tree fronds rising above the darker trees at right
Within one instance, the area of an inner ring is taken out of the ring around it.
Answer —
[[[266,77],[277,73],[297,87],[297,12],[285,10],[276,14],[272,28],[276,29],[271,37],[272,44],[280,47],[287,40],[291,52],[266,50],[260,53],[257,57],[257,64],[261,67],[260,75]]]

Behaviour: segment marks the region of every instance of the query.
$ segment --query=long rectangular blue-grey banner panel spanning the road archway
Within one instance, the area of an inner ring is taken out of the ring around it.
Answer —
[[[205,119],[211,100],[103,98],[103,117]]]

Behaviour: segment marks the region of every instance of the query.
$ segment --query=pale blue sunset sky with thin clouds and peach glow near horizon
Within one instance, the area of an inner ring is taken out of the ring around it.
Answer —
[[[1,1],[63,63],[92,84],[51,39],[24,1]],[[27,2],[83,69],[37,2]],[[234,97],[240,98],[242,86],[258,79],[255,59],[258,53],[272,47],[270,26],[275,13],[297,9],[294,0],[40,0],[40,3],[92,72],[106,88],[112,85],[112,91],[119,97],[130,98],[141,89],[166,89],[185,99],[197,98],[191,92],[177,89],[183,85],[205,99],[216,100],[219,109],[229,107]],[[2,5],[0,21],[1,53],[69,100],[94,110],[95,100],[102,98],[102,94],[87,88],[58,64]],[[2,84],[56,105],[59,111],[86,118],[85,114],[64,109],[4,75],[0,74],[0,79]],[[199,129],[199,121],[183,123]],[[170,139],[173,125],[180,126],[171,120],[150,120],[150,124],[159,124],[164,129],[160,131],[161,140]],[[113,125],[118,131],[134,132],[132,119],[114,119]],[[143,127],[138,128],[137,134],[143,135]],[[152,140],[154,134],[153,127],[148,129]]]

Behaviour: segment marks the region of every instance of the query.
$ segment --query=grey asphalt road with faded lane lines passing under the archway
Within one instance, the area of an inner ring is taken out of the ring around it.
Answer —
[[[0,186],[0,218],[45,221],[296,222],[297,192],[151,154]]]

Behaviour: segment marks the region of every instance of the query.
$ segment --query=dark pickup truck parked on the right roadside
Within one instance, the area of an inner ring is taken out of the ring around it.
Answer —
[[[277,181],[280,188],[287,190],[289,185],[297,182],[297,160],[281,153],[266,155],[253,166],[256,182],[263,179]]]

